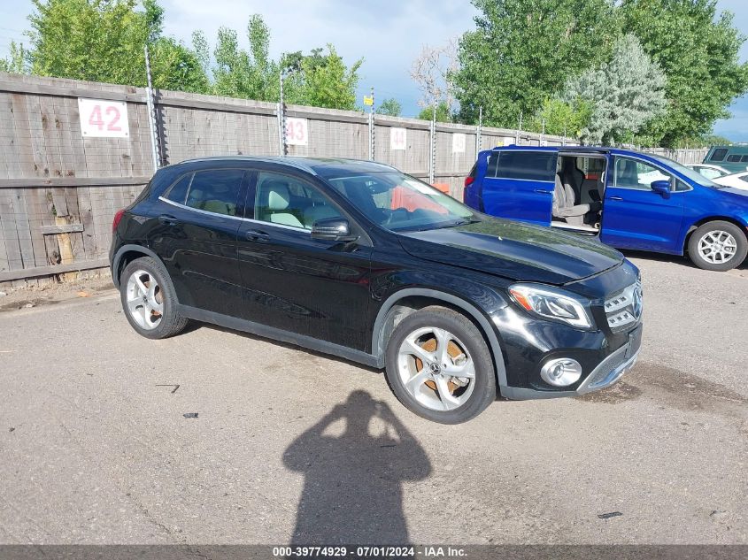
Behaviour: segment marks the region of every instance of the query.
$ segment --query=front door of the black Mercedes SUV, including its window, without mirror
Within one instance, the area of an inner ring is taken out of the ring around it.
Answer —
[[[317,219],[349,219],[358,242],[312,239]],[[238,234],[243,318],[366,348],[371,244],[319,184],[266,165],[253,173]]]

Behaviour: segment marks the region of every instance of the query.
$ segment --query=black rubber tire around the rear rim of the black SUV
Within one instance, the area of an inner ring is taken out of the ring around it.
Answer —
[[[137,271],[148,272],[158,284],[163,311],[160,314],[158,326],[152,328],[140,326],[127,305],[127,282]],[[182,317],[177,309],[174,284],[169,277],[169,273],[166,272],[164,265],[151,257],[136,258],[122,271],[120,275],[120,302],[122,303],[122,311],[125,313],[125,317],[127,317],[127,322],[135,329],[137,334],[141,334],[145,338],[168,338],[169,336],[180,334],[184,330],[184,327],[187,326],[188,319]]]

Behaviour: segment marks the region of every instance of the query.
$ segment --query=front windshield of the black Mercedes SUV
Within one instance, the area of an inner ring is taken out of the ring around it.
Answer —
[[[464,204],[405,173],[348,173],[326,179],[369,219],[391,231],[436,229],[478,221]]]

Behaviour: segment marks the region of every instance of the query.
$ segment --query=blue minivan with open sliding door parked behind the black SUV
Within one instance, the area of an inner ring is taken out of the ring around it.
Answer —
[[[706,270],[735,268],[748,253],[748,191],[635,150],[485,150],[463,199],[491,216],[598,236],[619,249],[687,253]]]

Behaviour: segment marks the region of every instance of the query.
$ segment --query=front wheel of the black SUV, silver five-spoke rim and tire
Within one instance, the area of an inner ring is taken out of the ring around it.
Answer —
[[[480,330],[450,309],[430,306],[400,321],[386,366],[399,401],[435,422],[467,422],[496,399],[493,361]]]

